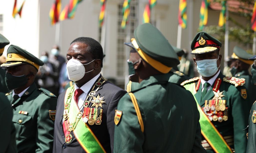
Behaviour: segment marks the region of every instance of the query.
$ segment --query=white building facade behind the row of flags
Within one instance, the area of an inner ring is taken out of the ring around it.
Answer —
[[[23,0],[17,0],[19,8]],[[108,0],[104,26],[99,28],[100,0],[84,0],[73,19],[67,19],[56,25],[50,25],[49,11],[55,0],[26,0],[22,17],[12,17],[14,0],[0,0],[0,33],[11,44],[26,49],[40,57],[41,52],[50,50],[54,44],[60,46],[61,55],[66,56],[70,42],[77,37],[92,37],[101,42],[106,57],[103,60],[102,73],[106,78],[116,80],[124,86],[129,47],[124,42],[133,36],[134,29],[142,24],[142,15],[148,0],[132,0],[131,16],[127,28],[121,28],[122,5],[124,0]],[[69,0],[62,0],[61,10]],[[197,33],[200,3],[188,0],[188,27],[182,30],[181,48],[190,49],[189,42]],[[158,0],[151,12],[151,22],[176,46],[178,28],[178,0]],[[194,15],[193,15],[194,14]],[[130,31],[130,33],[128,33]],[[5,48],[4,55],[6,55]]]

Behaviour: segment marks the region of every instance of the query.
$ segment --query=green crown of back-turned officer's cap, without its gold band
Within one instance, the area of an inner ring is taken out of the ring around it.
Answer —
[[[139,25],[134,31],[134,37],[140,49],[149,57],[168,67],[180,64],[171,44],[155,26],[149,23]]]

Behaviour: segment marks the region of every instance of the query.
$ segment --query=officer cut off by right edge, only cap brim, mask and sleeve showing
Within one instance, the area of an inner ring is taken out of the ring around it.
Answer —
[[[256,60],[256,55],[249,58],[249,60]],[[255,64],[252,65],[252,79],[254,85],[256,85],[256,67]],[[255,99],[256,100],[256,99]],[[256,150],[256,103],[254,102],[249,115],[249,126],[248,130],[248,143],[246,148],[246,153],[252,153]]]

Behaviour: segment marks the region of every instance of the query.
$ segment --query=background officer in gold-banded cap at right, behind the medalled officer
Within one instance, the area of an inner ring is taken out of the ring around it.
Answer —
[[[235,46],[233,49],[233,54],[231,55],[232,63],[230,72],[233,77],[244,78],[244,86],[247,88],[248,95],[250,98],[251,105],[256,100],[256,86],[253,84],[252,76],[249,74],[248,69],[253,64],[253,60],[248,58],[252,57],[251,54],[248,54],[244,49]]]

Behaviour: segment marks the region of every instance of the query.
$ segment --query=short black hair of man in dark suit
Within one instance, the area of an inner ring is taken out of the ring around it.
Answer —
[[[92,39],[90,37],[79,37],[73,40],[70,43],[70,45],[73,44],[74,42],[80,42],[80,43],[86,44],[88,46],[86,48],[86,51],[92,55],[93,59],[100,59],[101,60],[100,67],[103,67],[103,49],[97,40]]]

